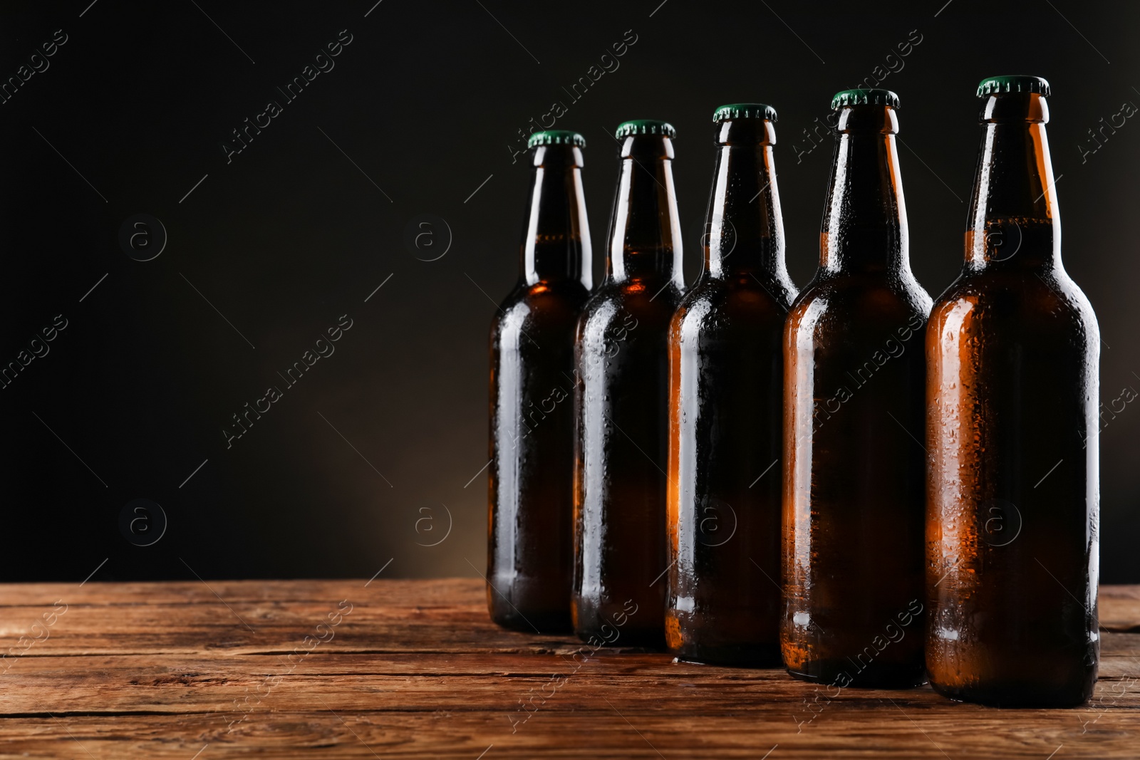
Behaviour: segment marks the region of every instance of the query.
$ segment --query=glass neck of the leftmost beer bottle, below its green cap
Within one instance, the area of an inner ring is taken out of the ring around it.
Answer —
[[[581,150],[572,146],[535,149],[535,181],[527,204],[520,275],[527,285],[578,280],[591,287],[589,221],[581,186]]]

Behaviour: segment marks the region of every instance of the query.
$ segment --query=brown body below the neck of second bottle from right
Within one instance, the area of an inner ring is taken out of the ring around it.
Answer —
[[[805,288],[785,330],[784,663],[829,685],[918,686],[928,302],[836,279]]]

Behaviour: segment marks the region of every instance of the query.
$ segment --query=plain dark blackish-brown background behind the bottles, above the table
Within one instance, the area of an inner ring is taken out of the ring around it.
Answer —
[[[518,130],[561,100],[556,126],[586,136],[597,283],[613,128],[673,122],[691,281],[712,111],[774,105],[803,286],[831,161],[830,144],[806,150],[803,130],[919,36],[881,83],[902,98],[919,280],[936,296],[961,263],[978,80],[1045,76],[1065,263],[1105,340],[1101,397],[1140,387],[1140,116],[1096,153],[1078,148],[1094,147],[1101,117],[1140,104],[1135,5],[89,3],[2,10],[0,77],[67,35],[0,105],[0,363],[67,320],[0,390],[3,580],[370,577],[390,561],[385,575],[482,572],[487,332],[516,277],[529,180],[508,147]],[[286,103],[275,88],[341,30],[352,41],[335,67]],[[633,35],[619,68],[572,101],[562,88]],[[270,99],[283,113],[227,163],[222,142]],[[137,213],[169,236],[152,261],[119,243]],[[435,218],[433,248],[405,242],[421,214]],[[286,389],[277,373],[341,314],[352,327],[335,353]],[[284,398],[227,448],[231,415],[269,385]],[[1105,419],[1102,578],[1138,582],[1140,410]],[[152,546],[120,530],[138,498],[169,518]]]

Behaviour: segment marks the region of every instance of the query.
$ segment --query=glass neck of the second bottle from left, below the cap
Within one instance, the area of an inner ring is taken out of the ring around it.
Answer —
[[[613,198],[606,276],[616,283],[671,279],[679,287],[681,254],[673,141],[627,137]]]

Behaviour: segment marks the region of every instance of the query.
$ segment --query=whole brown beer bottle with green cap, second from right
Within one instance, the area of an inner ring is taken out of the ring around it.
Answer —
[[[926,681],[922,335],[895,134],[898,97],[836,109],[820,267],[784,326],[788,671],[836,686]]]

